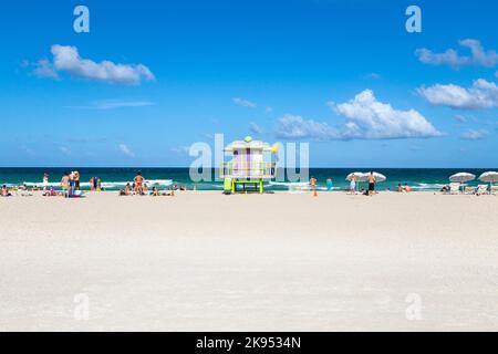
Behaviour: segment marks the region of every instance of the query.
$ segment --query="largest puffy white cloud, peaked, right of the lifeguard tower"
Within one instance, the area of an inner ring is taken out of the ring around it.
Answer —
[[[398,111],[378,102],[365,90],[349,102],[329,105],[345,122],[330,126],[324,122],[286,115],[279,119],[277,136],[282,138],[317,138],[329,140],[423,138],[440,136],[432,123],[414,110]]]

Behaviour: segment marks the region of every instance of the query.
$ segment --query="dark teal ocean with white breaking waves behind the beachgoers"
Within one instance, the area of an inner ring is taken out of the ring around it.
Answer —
[[[332,178],[333,190],[342,190],[349,187],[345,177],[352,171],[375,170],[387,177],[384,183],[377,184],[377,189],[394,190],[397,184],[407,183],[414,190],[439,190],[449,183],[448,177],[459,173],[467,171],[479,176],[487,170],[497,170],[498,168],[485,169],[460,169],[460,168],[310,168],[309,176],[318,179],[319,189],[325,189],[326,178]],[[41,186],[44,173],[49,174],[49,183],[59,189],[60,180],[64,171],[79,170],[81,174],[82,189],[90,188],[90,179],[100,177],[102,186],[106,190],[118,190],[133,180],[135,173],[141,170],[149,186],[159,186],[168,188],[173,184],[186,186],[198,190],[221,190],[222,181],[198,181],[194,183],[189,176],[188,168],[0,168],[0,185],[18,186],[27,184],[29,186]],[[214,176],[214,170],[211,170]],[[468,185],[476,186],[478,180],[470,181]],[[360,188],[362,186],[360,185]],[[286,190],[289,183],[283,180],[268,185],[268,190]]]

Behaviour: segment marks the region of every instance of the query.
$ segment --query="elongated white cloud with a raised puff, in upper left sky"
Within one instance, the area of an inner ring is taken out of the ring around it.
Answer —
[[[77,48],[70,45],[52,45],[53,63],[41,60],[34,74],[41,77],[59,77],[58,72],[68,72],[74,77],[102,81],[115,84],[136,85],[142,80],[153,81],[154,74],[143,65],[116,64],[104,60],[96,63],[80,56]]]

